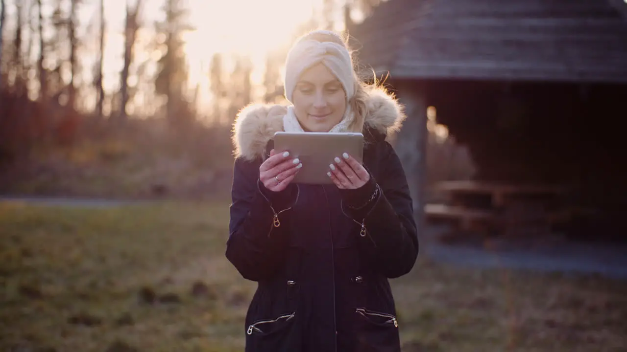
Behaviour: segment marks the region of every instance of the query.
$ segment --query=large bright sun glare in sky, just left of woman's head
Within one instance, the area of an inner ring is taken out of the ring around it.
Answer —
[[[201,96],[208,96],[209,67],[215,53],[249,56],[254,67],[251,79],[261,83],[266,55],[290,44],[298,26],[312,18],[318,2],[192,0],[190,23],[196,31],[185,36],[190,85],[199,85]]]

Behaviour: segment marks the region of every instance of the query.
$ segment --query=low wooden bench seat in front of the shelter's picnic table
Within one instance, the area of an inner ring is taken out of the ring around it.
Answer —
[[[485,227],[493,227],[497,222],[496,215],[490,210],[470,209],[446,204],[424,205],[424,216],[428,221],[455,222],[456,227],[461,230],[473,230],[478,226],[485,229]]]

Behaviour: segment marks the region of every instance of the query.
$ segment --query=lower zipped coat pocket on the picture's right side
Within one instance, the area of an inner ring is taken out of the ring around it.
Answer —
[[[371,311],[366,308],[357,308],[355,313],[357,315],[357,351],[401,351],[401,341],[396,316]]]

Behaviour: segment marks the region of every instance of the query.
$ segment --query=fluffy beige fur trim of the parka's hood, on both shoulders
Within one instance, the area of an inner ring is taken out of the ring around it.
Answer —
[[[406,118],[403,105],[384,88],[369,91],[366,109],[364,132],[373,129],[382,135],[389,135],[398,132]],[[285,113],[285,105],[253,104],[240,110],[233,125],[235,157],[246,160],[262,157],[275,132],[283,130]]]

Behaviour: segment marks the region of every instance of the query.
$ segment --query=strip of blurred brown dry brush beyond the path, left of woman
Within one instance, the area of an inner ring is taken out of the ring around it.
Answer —
[[[117,131],[86,128],[72,145],[38,145],[28,158],[0,160],[0,194],[189,198],[213,195],[230,180],[228,128],[177,134],[159,119],[129,123]]]

